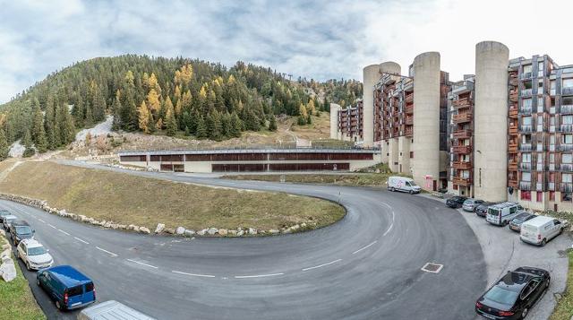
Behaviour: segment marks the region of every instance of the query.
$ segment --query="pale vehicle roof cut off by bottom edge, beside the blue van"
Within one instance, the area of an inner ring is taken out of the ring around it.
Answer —
[[[81,310],[78,320],[155,320],[115,300],[99,303]]]

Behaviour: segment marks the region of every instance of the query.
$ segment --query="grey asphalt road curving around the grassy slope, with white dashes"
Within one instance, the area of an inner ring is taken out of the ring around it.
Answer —
[[[422,196],[83,166],[311,195],[347,209],[342,221],[311,232],[190,239],[98,229],[0,202],[30,222],[56,264],[94,279],[98,301],[113,298],[158,319],[473,319],[486,286],[472,229],[458,212]],[[426,263],[443,267],[423,272]],[[35,273],[25,274],[49,318],[75,316],[57,312],[32,282]]]

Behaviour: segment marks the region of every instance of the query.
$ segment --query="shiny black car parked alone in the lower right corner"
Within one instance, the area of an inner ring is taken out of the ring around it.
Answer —
[[[549,272],[519,267],[508,272],[475,302],[475,312],[489,319],[523,319],[549,288]]]

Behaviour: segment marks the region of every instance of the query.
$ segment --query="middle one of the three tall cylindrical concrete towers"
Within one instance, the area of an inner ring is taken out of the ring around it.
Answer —
[[[440,181],[440,53],[414,59],[414,151],[412,176],[426,190]]]

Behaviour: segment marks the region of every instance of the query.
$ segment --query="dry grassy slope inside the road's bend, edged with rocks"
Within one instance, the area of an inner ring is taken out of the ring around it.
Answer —
[[[26,162],[0,182],[0,192],[47,200],[52,207],[155,229],[278,229],[304,221],[317,227],[341,219],[335,203],[281,193],[173,183],[52,162]]]

